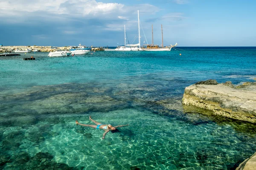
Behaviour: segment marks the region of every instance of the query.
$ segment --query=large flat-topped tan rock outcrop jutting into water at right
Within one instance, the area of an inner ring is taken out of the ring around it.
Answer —
[[[234,86],[215,80],[198,82],[185,88],[182,102],[241,121],[256,123],[256,82]]]

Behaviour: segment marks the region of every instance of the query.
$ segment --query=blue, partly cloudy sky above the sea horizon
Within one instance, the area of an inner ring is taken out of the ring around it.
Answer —
[[[0,0],[0,44],[256,46],[256,0]],[[124,30],[125,25],[125,30]]]

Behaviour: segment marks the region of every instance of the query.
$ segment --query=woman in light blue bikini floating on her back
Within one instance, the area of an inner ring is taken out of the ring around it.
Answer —
[[[119,126],[112,126],[112,125],[103,125],[102,123],[99,123],[99,122],[96,122],[95,120],[93,120],[91,118],[91,116],[89,117],[89,119],[95,123],[96,125],[85,125],[85,124],[81,124],[79,123],[77,120],[76,120],[76,125],[81,125],[81,126],[89,126],[89,127],[93,127],[95,129],[103,129],[105,130],[105,132],[103,133],[103,137],[102,139],[105,138],[105,135],[110,131],[110,130],[116,130],[116,127],[122,127],[122,126],[128,126],[129,124],[127,125],[119,125]]]

